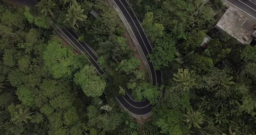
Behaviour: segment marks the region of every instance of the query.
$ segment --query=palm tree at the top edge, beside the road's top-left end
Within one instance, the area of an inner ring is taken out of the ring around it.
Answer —
[[[41,10],[44,16],[48,16],[49,13],[53,16],[53,11],[57,10],[57,5],[52,0],[41,0],[36,6],[39,7],[39,10]]]

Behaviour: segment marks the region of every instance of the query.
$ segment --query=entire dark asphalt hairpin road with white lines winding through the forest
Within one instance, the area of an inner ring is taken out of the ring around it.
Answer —
[[[24,6],[34,6],[35,3],[29,3],[30,0],[10,0],[15,3],[23,3]],[[125,0],[114,0],[116,5],[118,6],[121,13],[125,16],[125,19],[127,23],[129,24],[130,28],[133,31],[133,35],[135,35],[135,38],[137,42],[139,43],[139,46],[143,52],[144,58],[146,59],[148,63],[148,67],[151,74],[152,79],[152,85],[161,84],[162,82],[162,75],[161,71],[157,71],[154,69],[154,64],[149,61],[147,58],[148,54],[152,52],[152,46],[143,31],[141,24],[137,17],[135,16],[135,13],[132,11],[131,7]],[[27,3],[28,2],[28,3]],[[53,23],[54,24],[54,23]],[[54,24],[55,25],[55,24]],[[56,26],[57,27],[57,26]],[[105,74],[106,71],[102,70],[97,63],[98,61],[98,55],[95,54],[95,52],[92,50],[92,48],[89,47],[85,42],[78,42],[77,39],[79,36],[73,32],[72,30],[66,29],[66,28],[59,28],[57,27],[59,32],[61,32],[65,37],[67,38],[66,41],[69,42],[71,45],[75,45],[78,51],[84,55],[88,55],[88,60],[94,65],[96,71],[99,74]],[[107,70],[107,68],[105,67]],[[109,79],[109,78],[108,78]],[[141,102],[135,101],[131,98],[129,93],[126,93],[125,96],[118,96],[115,97],[118,102],[127,109],[131,114],[135,116],[145,116],[152,112],[152,104],[148,100],[144,100]]]

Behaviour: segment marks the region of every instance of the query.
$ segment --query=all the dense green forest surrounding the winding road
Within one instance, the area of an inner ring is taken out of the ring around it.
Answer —
[[[221,1],[129,3],[152,42],[148,57],[163,71],[161,86],[138,68],[108,0],[41,0],[33,8],[0,1],[1,135],[256,133],[256,46],[207,29]],[[107,74],[65,46],[50,20],[88,43]],[[212,39],[203,48],[206,35]],[[161,96],[148,122],[138,124],[116,102],[125,90],[152,104]]]

